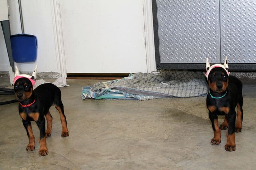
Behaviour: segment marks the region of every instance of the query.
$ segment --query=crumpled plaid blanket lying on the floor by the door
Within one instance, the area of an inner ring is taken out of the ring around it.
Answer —
[[[207,82],[202,72],[162,71],[129,74],[119,80],[83,87],[82,99],[138,99],[205,96]]]

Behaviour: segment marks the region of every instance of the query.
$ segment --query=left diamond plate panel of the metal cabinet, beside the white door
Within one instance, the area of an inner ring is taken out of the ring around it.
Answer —
[[[157,0],[160,63],[220,62],[219,0]]]

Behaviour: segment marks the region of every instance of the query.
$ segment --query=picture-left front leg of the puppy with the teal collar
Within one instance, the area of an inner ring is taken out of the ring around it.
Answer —
[[[209,118],[212,122],[212,129],[214,133],[214,137],[211,140],[212,145],[219,145],[221,143],[221,130],[218,126],[218,116],[215,114],[215,112],[209,111]]]

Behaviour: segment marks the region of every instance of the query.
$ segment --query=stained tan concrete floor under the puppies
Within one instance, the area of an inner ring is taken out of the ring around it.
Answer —
[[[213,130],[205,97],[82,100],[82,87],[99,81],[104,80],[67,80],[70,86],[60,88],[69,137],[61,137],[59,114],[51,107],[47,156],[38,155],[34,122],[35,150],[26,151],[18,104],[0,106],[0,169],[255,169],[256,81],[244,81],[243,130],[236,133],[234,152],[224,149],[226,130],[219,146],[210,144]],[[8,79],[1,78],[3,84]]]

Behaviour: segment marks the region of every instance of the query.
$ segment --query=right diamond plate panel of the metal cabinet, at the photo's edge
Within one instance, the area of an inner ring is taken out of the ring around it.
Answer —
[[[256,63],[256,1],[221,0],[221,58]]]

